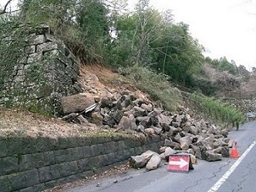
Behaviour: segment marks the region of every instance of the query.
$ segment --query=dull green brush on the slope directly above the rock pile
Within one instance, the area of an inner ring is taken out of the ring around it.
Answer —
[[[126,67],[120,72],[128,77],[136,88],[148,93],[167,110],[175,110],[181,104],[181,95],[177,88],[168,83],[168,77],[153,72],[147,67]]]

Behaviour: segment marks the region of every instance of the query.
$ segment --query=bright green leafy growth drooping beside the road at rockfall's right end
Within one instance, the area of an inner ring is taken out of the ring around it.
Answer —
[[[230,104],[221,102],[218,99],[207,98],[198,93],[191,94],[189,99],[198,109],[200,109],[201,112],[217,122],[236,125],[245,121],[243,112]]]

